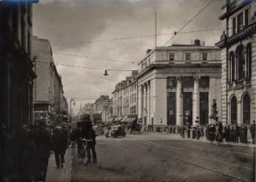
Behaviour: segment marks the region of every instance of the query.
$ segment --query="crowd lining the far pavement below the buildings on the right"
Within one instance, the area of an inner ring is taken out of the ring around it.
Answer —
[[[249,130],[248,130],[249,129]],[[191,133],[192,130],[192,133]],[[166,132],[168,134],[180,134],[181,137],[193,137],[197,140],[200,137],[206,137],[208,141],[222,142],[234,142],[234,143],[248,143],[248,132],[250,131],[252,144],[255,144],[255,120],[252,121],[251,126],[248,127],[245,124],[225,124],[222,122],[208,124],[207,126],[189,126],[189,125],[159,125],[147,127],[142,126],[144,132]],[[191,135],[191,136],[190,136]]]

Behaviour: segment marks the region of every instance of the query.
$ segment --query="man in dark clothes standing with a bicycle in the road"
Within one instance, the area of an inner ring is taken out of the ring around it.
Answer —
[[[87,148],[87,155],[88,155],[88,162],[91,162],[91,158],[93,163],[97,162],[97,156],[96,156],[96,150],[95,150],[95,145],[96,145],[96,132],[95,130],[92,129],[92,125],[88,126],[88,148]],[[91,155],[92,151],[92,155]]]

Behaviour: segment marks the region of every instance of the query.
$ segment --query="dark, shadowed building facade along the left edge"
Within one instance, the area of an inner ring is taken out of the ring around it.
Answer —
[[[32,123],[32,26],[31,2],[0,2],[0,120],[9,130]]]

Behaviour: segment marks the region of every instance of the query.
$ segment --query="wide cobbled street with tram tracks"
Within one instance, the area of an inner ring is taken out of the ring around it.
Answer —
[[[98,162],[83,166],[74,149],[71,181],[254,181],[251,145],[215,145],[176,134],[97,137]]]

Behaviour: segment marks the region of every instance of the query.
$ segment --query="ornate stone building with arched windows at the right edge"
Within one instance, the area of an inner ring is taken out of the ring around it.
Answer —
[[[256,119],[256,2],[222,6],[222,120],[247,124]]]

